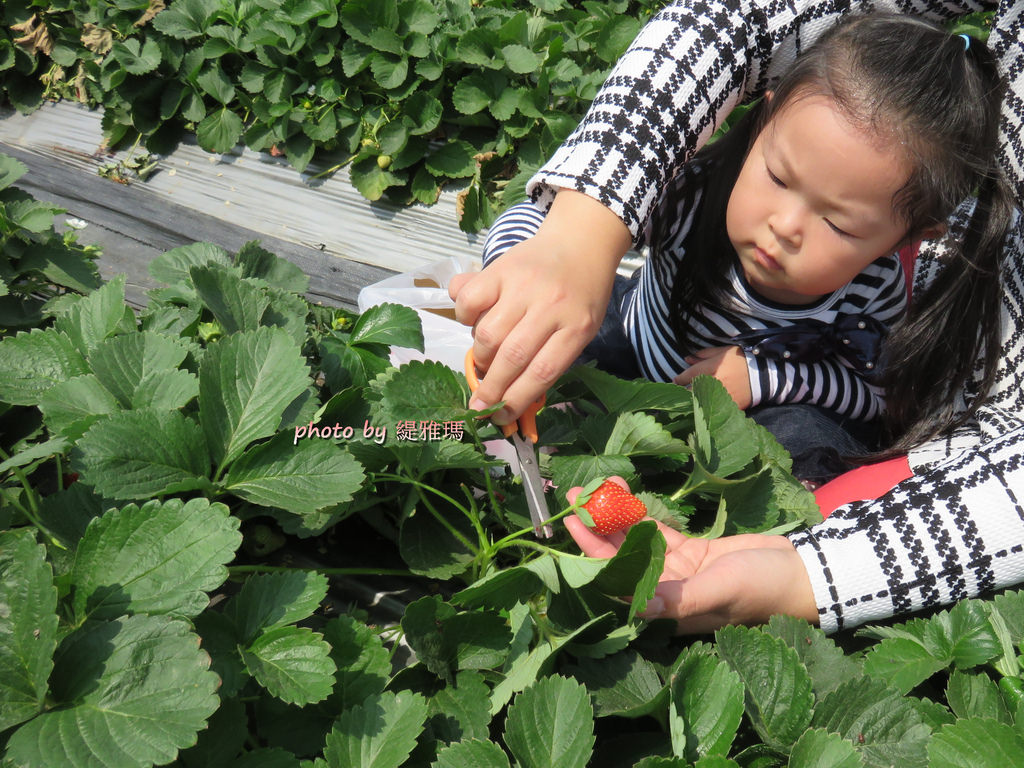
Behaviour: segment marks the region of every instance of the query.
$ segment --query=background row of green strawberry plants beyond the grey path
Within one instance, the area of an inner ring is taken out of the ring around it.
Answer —
[[[0,98],[103,109],[112,145],[165,153],[185,131],[304,170],[347,165],[370,200],[433,203],[469,182],[489,223],[574,127],[665,0],[14,0]]]

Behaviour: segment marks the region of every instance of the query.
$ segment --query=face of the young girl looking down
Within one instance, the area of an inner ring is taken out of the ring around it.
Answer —
[[[843,287],[905,240],[893,197],[909,176],[897,146],[850,124],[828,97],[786,104],[729,197],[726,227],[748,283],[782,304]]]

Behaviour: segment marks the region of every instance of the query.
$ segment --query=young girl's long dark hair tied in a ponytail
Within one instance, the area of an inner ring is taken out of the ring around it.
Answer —
[[[898,142],[912,167],[893,205],[907,241],[943,224],[977,196],[966,233],[949,239],[949,261],[885,345],[887,455],[905,453],[971,418],[995,380],[999,352],[999,264],[1013,199],[996,165],[1004,85],[981,41],[911,16],[849,16],[799,56],[773,89],[724,136],[701,150],[692,172],[705,180],[700,214],[672,288],[677,342],[691,313],[724,298],[731,254],[729,196],[762,127],[795,98],[824,95],[853,125]],[[651,247],[664,242],[676,209],[659,209]],[[908,280],[911,275],[907,275]],[[686,350],[696,351],[696,350]],[[980,362],[979,362],[980,360]],[[975,397],[956,410],[978,370]]]

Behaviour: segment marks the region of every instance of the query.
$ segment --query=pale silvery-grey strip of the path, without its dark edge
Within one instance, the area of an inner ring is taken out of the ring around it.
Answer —
[[[98,111],[67,102],[31,115],[8,112],[0,119],[0,145],[59,160],[91,177],[111,162],[97,154],[100,120]],[[282,158],[241,146],[210,155],[185,140],[160,158],[145,183],[133,186],[160,202],[384,269],[409,271],[453,255],[478,261],[482,238],[459,229],[456,190],[444,191],[433,206],[402,208],[367,201],[345,168],[316,178],[322,171],[310,165],[300,174]]]

